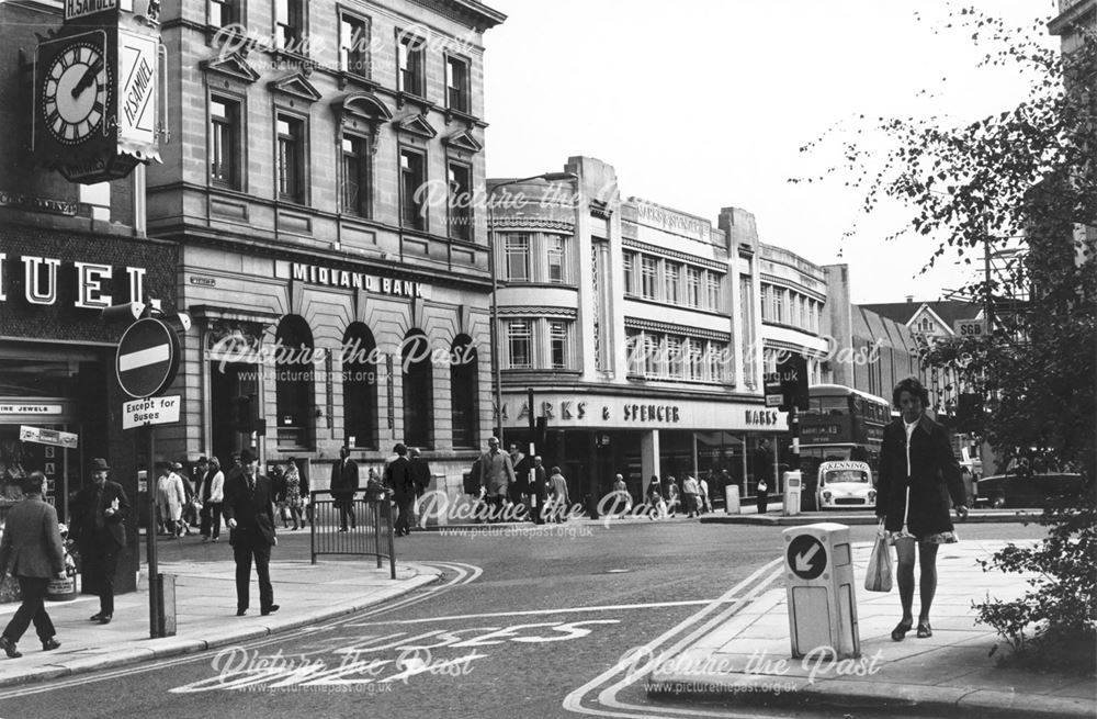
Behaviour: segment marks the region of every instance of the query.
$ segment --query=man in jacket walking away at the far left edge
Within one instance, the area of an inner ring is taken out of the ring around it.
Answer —
[[[43,603],[49,580],[54,576],[65,578],[65,553],[57,527],[57,512],[42,499],[46,475],[42,472],[31,472],[20,480],[23,501],[8,514],[3,540],[0,540],[0,577],[8,572],[10,563],[23,597],[15,616],[0,636],[0,649],[9,659],[22,656],[15,644],[32,621],[42,640],[43,651],[61,645],[54,639],[54,623]]]

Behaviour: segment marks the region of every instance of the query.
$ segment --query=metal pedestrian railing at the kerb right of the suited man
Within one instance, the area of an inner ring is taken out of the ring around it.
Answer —
[[[396,551],[393,540],[393,510],[387,497],[354,496],[342,501],[330,492],[310,492],[313,564],[319,554],[376,557],[377,569],[387,558],[389,573],[396,578]],[[346,523],[346,526],[344,526]]]

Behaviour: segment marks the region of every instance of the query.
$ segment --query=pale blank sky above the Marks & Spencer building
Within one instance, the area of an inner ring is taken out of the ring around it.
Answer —
[[[856,177],[788,181],[826,169],[838,145],[800,148],[857,126],[858,115],[971,122],[1024,99],[1016,68],[977,68],[986,48],[945,27],[959,4],[486,1],[508,15],[485,35],[488,177],[597,157],[614,166],[625,196],[713,225],[721,207],[742,207],[761,241],[848,263],[858,303],[937,300],[969,277],[951,256],[920,273],[937,247],[929,238],[885,243],[912,212],[892,204],[863,215],[863,190],[846,187]],[[1055,12],[1051,0],[974,4],[1017,26]],[[886,147],[871,134],[862,143]]]

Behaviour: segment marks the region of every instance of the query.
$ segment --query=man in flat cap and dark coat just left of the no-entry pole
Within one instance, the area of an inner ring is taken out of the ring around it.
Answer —
[[[111,623],[114,618],[114,574],[118,554],[126,546],[123,524],[129,499],[122,485],[106,478],[111,467],[105,459],[91,460],[92,483],[76,495],[72,503],[72,528],[83,560],[83,587],[99,595],[99,613],[92,621]]]

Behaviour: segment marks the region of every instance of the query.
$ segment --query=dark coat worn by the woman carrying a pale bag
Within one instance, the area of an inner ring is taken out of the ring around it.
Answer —
[[[906,514],[908,486],[911,509]],[[907,476],[903,418],[884,427],[877,516],[885,517],[885,528],[898,531],[905,515],[907,531],[917,537],[952,531],[949,495],[954,504],[966,504],[960,463],[952,453],[948,430],[926,415],[921,416],[911,435],[911,475]]]

